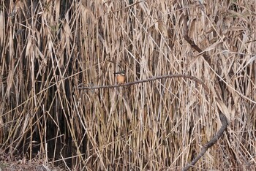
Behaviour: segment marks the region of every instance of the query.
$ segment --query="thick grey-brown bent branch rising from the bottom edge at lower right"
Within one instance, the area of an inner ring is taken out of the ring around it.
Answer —
[[[211,148],[211,146],[214,145],[217,142],[217,140],[219,140],[220,137],[222,137],[222,134],[227,129],[227,118],[223,113],[219,113],[219,118],[220,118],[220,121],[222,121],[222,127],[219,129],[217,134],[210,141],[208,141],[205,145],[203,145],[202,151],[200,151],[197,157],[193,159],[193,161],[191,161],[190,164],[187,164],[187,166],[183,168],[183,171],[189,170],[190,167],[194,166],[195,163],[203,156],[203,154],[206,153],[208,148]]]

